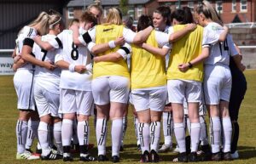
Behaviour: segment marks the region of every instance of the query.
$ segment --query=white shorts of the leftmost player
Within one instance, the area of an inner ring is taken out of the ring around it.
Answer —
[[[35,110],[33,71],[19,69],[14,76],[19,110]]]

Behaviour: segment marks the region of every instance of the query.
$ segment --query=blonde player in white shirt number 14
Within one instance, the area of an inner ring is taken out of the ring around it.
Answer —
[[[204,26],[206,39],[203,40],[203,46],[211,48],[210,56],[205,61],[204,92],[211,120],[212,160],[221,160],[220,144],[221,129],[223,129],[224,160],[230,161],[232,160],[230,155],[232,126],[229,114],[231,91],[230,55],[235,62],[237,61],[237,65],[241,65],[241,63],[239,56],[236,55],[238,53],[233,54],[235,51],[230,51],[230,48],[235,48],[229,41],[230,37],[220,39],[220,34],[224,31],[223,23],[219,19],[216,10],[212,8],[212,5],[207,1],[203,1],[202,5],[196,9],[196,14],[198,14],[199,24]],[[204,42],[207,42],[207,44],[204,45]]]

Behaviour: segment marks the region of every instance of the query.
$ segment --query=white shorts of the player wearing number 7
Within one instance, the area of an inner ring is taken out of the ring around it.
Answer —
[[[51,93],[45,88],[37,85],[37,82],[35,82],[34,95],[38,107],[38,115],[40,117],[45,115],[61,117],[58,113],[60,94]]]

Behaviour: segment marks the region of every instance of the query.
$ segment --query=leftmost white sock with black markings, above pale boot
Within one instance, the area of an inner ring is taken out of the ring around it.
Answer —
[[[18,120],[16,125],[17,151],[24,153],[27,135],[27,122]]]

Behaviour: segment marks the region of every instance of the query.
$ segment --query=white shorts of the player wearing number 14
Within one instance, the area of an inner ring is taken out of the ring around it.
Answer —
[[[207,105],[218,105],[220,99],[230,102],[231,86],[228,65],[205,65],[204,99]]]

